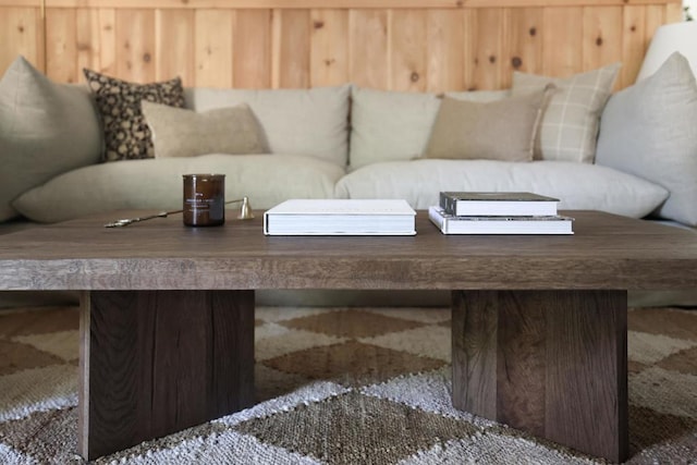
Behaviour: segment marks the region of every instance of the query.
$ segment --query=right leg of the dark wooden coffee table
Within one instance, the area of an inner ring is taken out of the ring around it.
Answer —
[[[625,291],[454,291],[453,405],[623,462],[626,302]]]

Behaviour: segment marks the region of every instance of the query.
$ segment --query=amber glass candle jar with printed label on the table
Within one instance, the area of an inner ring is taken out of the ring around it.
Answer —
[[[184,174],[184,224],[218,227],[225,222],[225,175]]]

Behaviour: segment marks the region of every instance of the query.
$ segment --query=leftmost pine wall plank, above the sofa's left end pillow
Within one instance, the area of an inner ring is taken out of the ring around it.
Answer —
[[[0,8],[0,74],[17,56],[44,71],[44,27],[38,8]]]

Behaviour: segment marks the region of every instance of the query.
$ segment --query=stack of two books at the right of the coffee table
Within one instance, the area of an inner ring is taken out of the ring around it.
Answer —
[[[573,234],[558,204],[528,192],[441,192],[428,217],[443,234]]]

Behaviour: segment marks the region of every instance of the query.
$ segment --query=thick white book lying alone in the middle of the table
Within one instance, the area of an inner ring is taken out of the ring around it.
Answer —
[[[416,211],[400,199],[291,199],[264,213],[266,235],[414,235]]]

